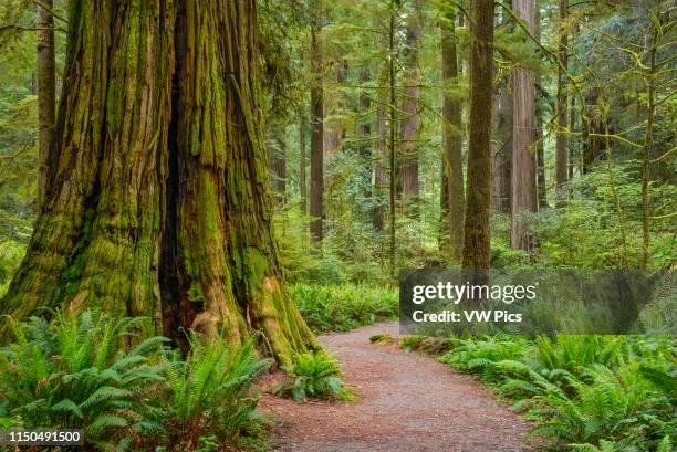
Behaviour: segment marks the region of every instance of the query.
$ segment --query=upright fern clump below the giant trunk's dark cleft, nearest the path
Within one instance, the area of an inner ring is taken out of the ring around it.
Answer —
[[[191,334],[189,344],[185,360],[175,351],[166,362],[171,431],[192,444],[208,432],[241,434],[258,401],[252,383],[271,361],[259,359],[251,341],[236,349]]]

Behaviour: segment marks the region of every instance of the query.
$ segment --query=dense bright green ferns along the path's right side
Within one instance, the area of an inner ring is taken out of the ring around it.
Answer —
[[[530,435],[551,438],[558,450],[653,451],[677,433],[670,344],[632,336],[478,338],[440,360],[514,400],[538,423]]]

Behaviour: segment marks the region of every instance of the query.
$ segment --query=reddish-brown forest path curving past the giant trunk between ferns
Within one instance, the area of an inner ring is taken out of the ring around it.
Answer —
[[[353,402],[295,403],[268,390],[259,409],[279,421],[274,451],[293,452],[508,452],[527,448],[528,425],[471,377],[396,345],[369,337],[399,335],[378,324],[321,336],[336,354]],[[271,388],[281,376],[267,378]]]

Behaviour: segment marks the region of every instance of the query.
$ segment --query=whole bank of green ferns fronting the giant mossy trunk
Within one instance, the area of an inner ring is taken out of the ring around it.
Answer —
[[[0,427],[82,429],[100,450],[256,446],[252,382],[270,361],[251,344],[196,334],[183,358],[164,337],[139,341],[143,320],[86,312],[13,323],[14,341],[0,348]]]

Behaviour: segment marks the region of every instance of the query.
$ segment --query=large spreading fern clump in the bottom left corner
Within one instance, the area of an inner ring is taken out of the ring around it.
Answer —
[[[87,442],[119,450],[160,433],[163,410],[149,398],[164,381],[163,367],[152,356],[166,339],[125,350],[137,323],[85,313],[13,324],[15,343],[0,350],[2,423],[83,429]]]

